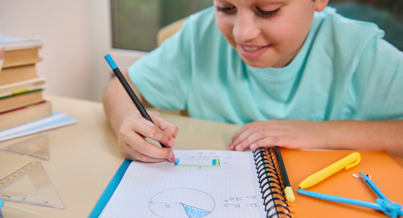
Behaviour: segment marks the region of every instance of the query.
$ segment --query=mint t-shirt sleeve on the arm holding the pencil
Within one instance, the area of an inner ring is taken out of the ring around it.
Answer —
[[[191,39],[187,19],[160,47],[129,66],[131,82],[151,105],[164,110],[186,108],[191,80]]]

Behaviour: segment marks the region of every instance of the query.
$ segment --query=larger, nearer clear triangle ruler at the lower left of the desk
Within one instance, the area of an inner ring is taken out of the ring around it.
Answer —
[[[40,162],[31,162],[1,179],[0,199],[64,209]]]

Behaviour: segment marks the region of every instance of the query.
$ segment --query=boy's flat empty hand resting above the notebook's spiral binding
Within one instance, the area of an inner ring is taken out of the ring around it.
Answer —
[[[324,148],[326,138],[321,122],[303,120],[267,120],[245,124],[232,137],[230,150],[255,150],[259,147],[288,149]]]

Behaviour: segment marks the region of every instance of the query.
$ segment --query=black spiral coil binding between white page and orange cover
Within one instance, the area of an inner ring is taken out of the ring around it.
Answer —
[[[253,152],[253,158],[266,217],[292,218],[272,149],[258,148]]]

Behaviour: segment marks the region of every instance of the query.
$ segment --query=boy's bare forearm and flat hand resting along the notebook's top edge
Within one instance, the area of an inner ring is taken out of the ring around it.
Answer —
[[[237,151],[272,146],[388,151],[403,157],[403,120],[256,121],[239,129],[229,143]]]

